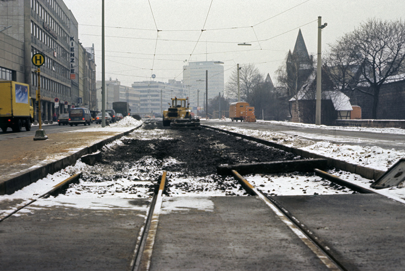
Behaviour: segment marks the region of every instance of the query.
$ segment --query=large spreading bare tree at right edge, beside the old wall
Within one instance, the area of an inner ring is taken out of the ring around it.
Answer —
[[[331,46],[328,72],[340,89],[373,97],[377,119],[381,86],[405,78],[405,23],[370,19]]]

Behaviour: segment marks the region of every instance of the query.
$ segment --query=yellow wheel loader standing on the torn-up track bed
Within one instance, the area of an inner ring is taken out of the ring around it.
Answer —
[[[172,98],[168,110],[163,112],[163,126],[172,127],[197,127],[199,126],[199,119],[194,119],[191,116],[189,109],[188,97],[187,98]]]

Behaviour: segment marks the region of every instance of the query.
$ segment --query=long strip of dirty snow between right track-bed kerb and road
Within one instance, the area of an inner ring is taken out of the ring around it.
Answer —
[[[216,125],[214,127],[381,171],[388,170],[397,160],[405,156],[405,151],[403,150],[383,149],[377,146],[353,146],[334,144],[327,141],[315,142],[298,136],[289,136],[268,131],[257,131],[222,125]]]

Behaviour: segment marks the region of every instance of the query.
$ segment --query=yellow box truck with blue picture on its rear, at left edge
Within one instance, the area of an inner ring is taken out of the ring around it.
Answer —
[[[27,84],[14,81],[0,81],[0,128],[3,132],[31,130],[34,118],[32,100]]]

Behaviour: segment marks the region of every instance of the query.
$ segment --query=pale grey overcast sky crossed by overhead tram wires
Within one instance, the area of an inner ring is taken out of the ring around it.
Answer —
[[[64,1],[79,24],[80,42],[94,43],[101,80],[101,1]],[[403,0],[105,0],[106,80],[127,86],[152,74],[156,81],[182,80],[183,65],[208,60],[224,62],[225,83],[237,63],[254,64],[275,83],[299,28],[316,56],[318,16],[328,23],[325,52],[369,18],[403,20],[404,11]],[[242,42],[252,45],[237,45]]]

